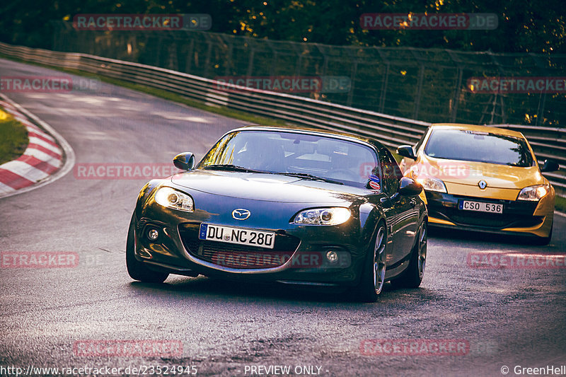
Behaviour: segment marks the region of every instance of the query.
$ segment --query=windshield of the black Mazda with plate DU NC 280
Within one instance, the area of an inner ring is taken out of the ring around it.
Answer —
[[[367,182],[366,166],[376,166],[374,151],[353,141],[294,132],[231,132],[216,143],[197,168],[312,175],[350,185]]]

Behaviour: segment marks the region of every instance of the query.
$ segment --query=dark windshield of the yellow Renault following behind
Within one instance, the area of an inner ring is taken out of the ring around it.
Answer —
[[[524,139],[464,129],[434,129],[424,149],[427,156],[450,160],[533,166]]]

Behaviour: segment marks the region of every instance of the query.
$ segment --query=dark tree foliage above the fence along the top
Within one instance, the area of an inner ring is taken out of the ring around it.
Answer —
[[[0,5],[0,40],[52,46],[49,21],[79,13],[208,13],[212,31],[330,45],[465,51],[566,52],[562,0],[11,0]],[[495,13],[496,30],[362,30],[363,13]]]

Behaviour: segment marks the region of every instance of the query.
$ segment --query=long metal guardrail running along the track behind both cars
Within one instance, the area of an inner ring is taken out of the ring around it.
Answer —
[[[373,137],[393,148],[399,144],[415,144],[431,124],[286,93],[236,88],[228,83],[219,83],[219,81],[170,69],[88,54],[54,52],[12,46],[1,42],[0,54],[26,62],[79,69],[92,74],[139,83],[178,93],[207,105],[225,106],[284,120],[291,124]],[[566,129],[515,124],[498,124],[497,127],[523,132],[529,139],[539,161],[554,158],[560,163],[561,169],[566,169]],[[545,173],[545,175],[560,195],[566,195],[564,171]]]

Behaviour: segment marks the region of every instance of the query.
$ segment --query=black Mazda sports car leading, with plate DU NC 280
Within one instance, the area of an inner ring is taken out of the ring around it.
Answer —
[[[427,256],[422,186],[379,141],[312,129],[243,127],[195,168],[151,180],[127,236],[129,275],[168,274],[350,286],[420,285]]]

